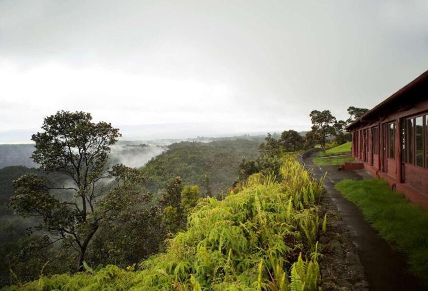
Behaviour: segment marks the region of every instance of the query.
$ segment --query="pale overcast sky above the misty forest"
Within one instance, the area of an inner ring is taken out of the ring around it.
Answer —
[[[125,139],[310,129],[428,69],[428,1],[0,0],[0,143],[85,111]]]

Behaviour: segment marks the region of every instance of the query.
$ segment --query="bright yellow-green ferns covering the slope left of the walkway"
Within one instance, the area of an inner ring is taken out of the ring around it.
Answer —
[[[318,290],[321,193],[287,155],[277,177],[256,173],[223,200],[200,199],[187,230],[139,266],[86,265],[3,290]]]

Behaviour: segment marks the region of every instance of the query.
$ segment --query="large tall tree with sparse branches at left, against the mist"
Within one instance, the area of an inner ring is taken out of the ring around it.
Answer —
[[[79,271],[97,230],[146,199],[131,186],[142,181],[138,170],[116,165],[107,171],[108,153],[121,136],[119,129],[91,120],[89,113],[66,111],[44,119],[44,131],[32,136],[36,143],[32,159],[48,176],[59,173],[64,178],[50,181],[24,175],[13,182],[16,192],[9,204],[19,215],[40,217],[36,229],[76,250]],[[108,178],[116,183],[106,194],[103,180]]]

